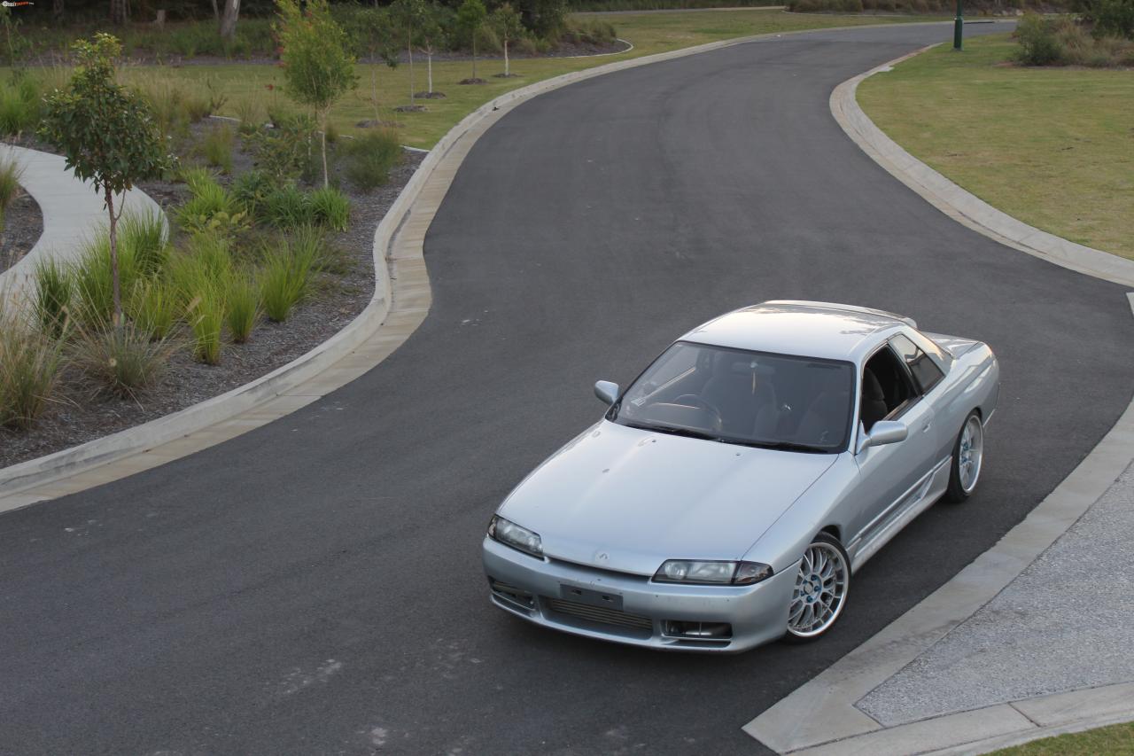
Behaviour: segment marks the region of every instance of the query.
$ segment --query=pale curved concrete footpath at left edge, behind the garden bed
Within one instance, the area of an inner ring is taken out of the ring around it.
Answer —
[[[28,301],[35,294],[35,264],[40,260],[75,260],[83,241],[107,224],[102,195],[88,182],[81,182],[67,170],[58,154],[0,144],[3,157],[15,158],[24,168],[19,183],[40,204],[43,235],[15,266],[0,272],[0,294],[6,306]],[[117,202],[121,198],[116,199]],[[161,208],[139,188],[125,193],[126,212],[161,212]]]

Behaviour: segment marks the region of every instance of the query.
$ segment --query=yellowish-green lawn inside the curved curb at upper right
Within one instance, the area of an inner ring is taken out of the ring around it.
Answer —
[[[1005,64],[1016,47],[995,35],[934,48],[863,82],[858,102],[989,204],[1134,258],[1134,72]]]

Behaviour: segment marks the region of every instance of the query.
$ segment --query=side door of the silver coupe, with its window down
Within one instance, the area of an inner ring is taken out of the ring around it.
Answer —
[[[904,394],[888,396],[888,411],[882,419],[903,422],[907,428],[907,436],[905,440],[868,446],[855,454],[858,486],[855,495],[857,506],[853,522],[854,538],[850,541],[853,545],[860,540],[869,541],[887,522],[924,496],[938,445],[933,408],[930,402],[924,401],[905,361],[888,343],[868,360],[864,371],[872,366],[880,368],[883,364],[890,372],[888,378],[900,383],[892,390]],[[860,379],[860,406],[864,383]],[[864,431],[861,422],[858,430],[860,434]]]

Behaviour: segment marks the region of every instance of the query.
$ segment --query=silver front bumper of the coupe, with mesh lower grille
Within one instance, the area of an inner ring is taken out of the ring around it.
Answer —
[[[552,558],[484,538],[492,603],[530,622],[613,642],[668,650],[735,653],[787,631],[797,566],[754,586],[679,586]],[[678,636],[672,623],[731,625],[728,637]]]

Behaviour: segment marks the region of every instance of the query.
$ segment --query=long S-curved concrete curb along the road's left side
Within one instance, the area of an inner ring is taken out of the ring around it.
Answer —
[[[942,22],[911,24],[942,25]],[[852,28],[892,26],[861,25]],[[314,402],[373,368],[401,345],[429,310],[425,232],[460,162],[509,110],[575,82],[760,40],[831,28],[759,34],[619,60],[535,82],[491,100],[430,151],[374,234],[375,292],[366,309],[327,342],[288,364],[179,412],[0,470],[0,512],[65,496],[192,454]]]

